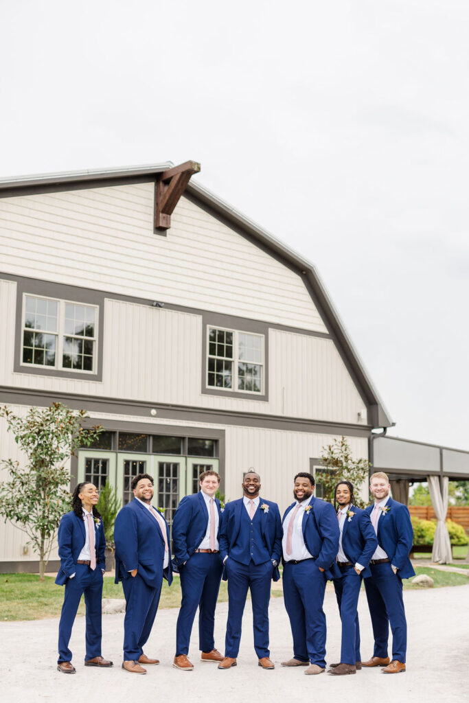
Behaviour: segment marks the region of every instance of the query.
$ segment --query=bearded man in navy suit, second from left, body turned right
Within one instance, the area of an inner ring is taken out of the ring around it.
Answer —
[[[122,669],[146,673],[142,664],[160,664],[143,654],[155,621],[163,576],[172,582],[169,529],[153,508],[153,476],[139,474],[131,482],[134,500],[115,520],[115,583],[122,581],[126,609]]]

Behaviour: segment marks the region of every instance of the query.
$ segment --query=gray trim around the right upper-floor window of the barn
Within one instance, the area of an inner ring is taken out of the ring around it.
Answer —
[[[209,327],[251,332],[264,337],[264,392],[245,393],[224,388],[207,387],[207,330]],[[269,400],[269,323],[248,318],[234,317],[221,313],[203,312],[202,314],[202,375],[200,390],[205,395],[218,395],[225,398],[243,398],[246,400]]]

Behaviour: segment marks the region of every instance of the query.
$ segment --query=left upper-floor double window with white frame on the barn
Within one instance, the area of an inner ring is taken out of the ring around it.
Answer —
[[[23,297],[23,364],[93,373],[98,308],[34,295]]]

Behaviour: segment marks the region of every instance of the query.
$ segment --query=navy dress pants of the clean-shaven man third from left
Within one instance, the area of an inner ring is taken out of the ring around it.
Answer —
[[[181,576],[181,610],[176,624],[176,657],[188,654],[195,613],[199,609],[199,649],[211,652],[213,631],[223,566],[219,554],[195,553],[184,566]]]

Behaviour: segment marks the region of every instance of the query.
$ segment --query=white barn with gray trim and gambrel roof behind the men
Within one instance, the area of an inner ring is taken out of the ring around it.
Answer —
[[[0,183],[0,403],[85,408],[105,433],[71,485],[108,477],[127,501],[145,470],[169,520],[207,466],[231,499],[255,467],[285,508],[325,444],[345,435],[367,457],[392,424],[314,266],[197,171]],[[17,455],[2,421],[0,456]],[[0,572],[36,570],[25,535],[0,529]]]

